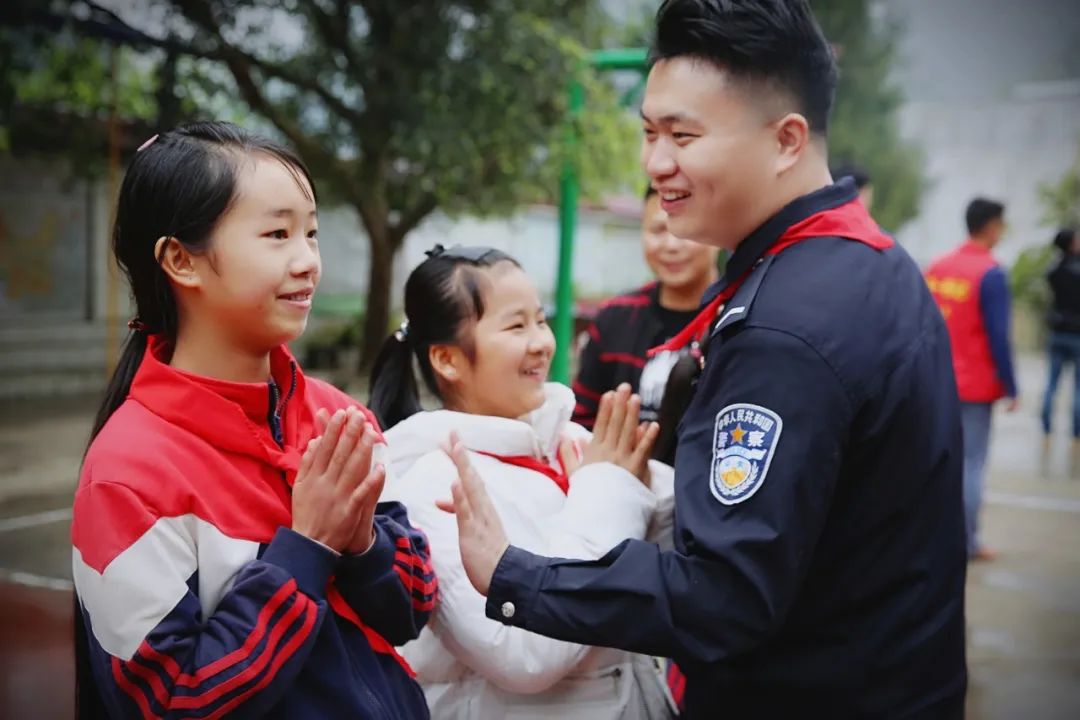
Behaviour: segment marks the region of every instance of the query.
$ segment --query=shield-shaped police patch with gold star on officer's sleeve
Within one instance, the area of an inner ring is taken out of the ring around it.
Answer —
[[[725,505],[738,505],[757,492],[769,474],[784,422],[760,405],[738,403],[716,415],[710,488]]]

